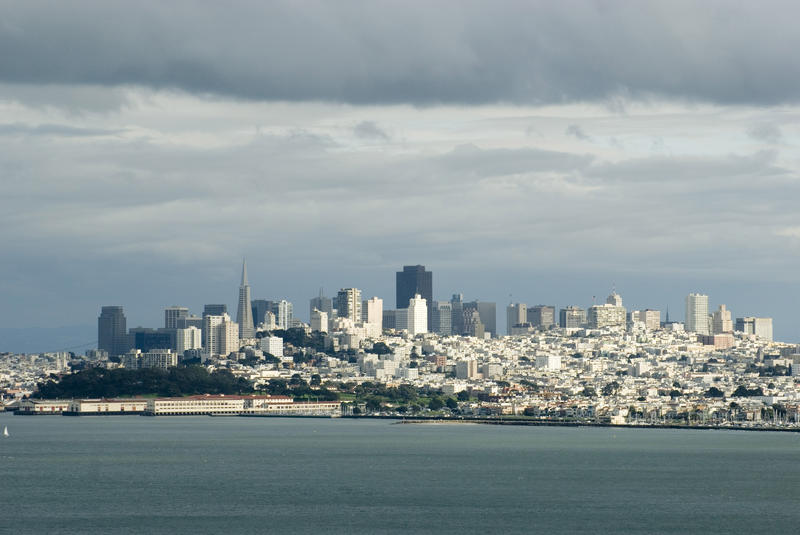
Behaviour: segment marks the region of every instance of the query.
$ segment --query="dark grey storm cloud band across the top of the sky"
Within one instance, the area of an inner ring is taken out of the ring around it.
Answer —
[[[794,2],[0,6],[0,81],[13,84],[417,105],[800,96]]]

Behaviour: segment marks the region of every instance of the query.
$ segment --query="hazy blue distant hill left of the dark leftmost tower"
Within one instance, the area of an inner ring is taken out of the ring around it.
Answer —
[[[97,325],[68,327],[0,327],[0,353],[83,353],[97,347]]]

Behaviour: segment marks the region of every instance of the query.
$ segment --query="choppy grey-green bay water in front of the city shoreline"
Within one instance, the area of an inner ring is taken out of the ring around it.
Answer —
[[[800,435],[0,415],[0,532],[797,533]]]

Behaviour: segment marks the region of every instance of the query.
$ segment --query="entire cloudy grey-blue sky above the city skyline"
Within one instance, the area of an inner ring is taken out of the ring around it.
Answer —
[[[800,9],[769,4],[0,0],[0,351],[235,307],[243,256],[301,318],[420,263],[800,341]]]

